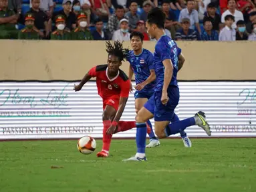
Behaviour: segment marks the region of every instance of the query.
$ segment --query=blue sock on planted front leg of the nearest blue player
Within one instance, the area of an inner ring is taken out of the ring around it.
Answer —
[[[146,123],[136,123],[137,153],[145,153],[146,149]]]

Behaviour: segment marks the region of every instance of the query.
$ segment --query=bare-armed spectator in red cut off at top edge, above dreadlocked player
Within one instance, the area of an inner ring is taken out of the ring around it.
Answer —
[[[92,0],[92,11],[94,15],[101,19],[106,19],[111,16],[106,0]]]

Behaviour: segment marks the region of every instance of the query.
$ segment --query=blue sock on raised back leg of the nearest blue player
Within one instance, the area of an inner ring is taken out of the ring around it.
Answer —
[[[182,121],[170,123],[165,128],[166,137],[168,137],[169,135],[175,135],[176,133],[180,133],[181,131],[184,131],[184,129],[186,129],[186,127],[190,127],[192,125],[196,125],[194,117],[190,117],[190,118],[184,119]]]

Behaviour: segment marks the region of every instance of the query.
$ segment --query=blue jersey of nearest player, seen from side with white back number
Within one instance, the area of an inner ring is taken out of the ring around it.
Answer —
[[[178,56],[181,53],[181,49],[178,45],[170,39],[167,35],[162,35],[156,42],[154,48],[154,68],[156,72],[156,88],[155,91],[162,91],[164,85],[164,65],[162,61],[170,59],[173,65],[172,79],[170,85],[178,87],[177,73],[178,73]]]

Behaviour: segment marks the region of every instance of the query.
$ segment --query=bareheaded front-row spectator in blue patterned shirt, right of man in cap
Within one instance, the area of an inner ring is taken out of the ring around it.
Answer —
[[[201,34],[202,41],[219,41],[219,34],[213,29],[211,20],[204,21],[204,31]]]

